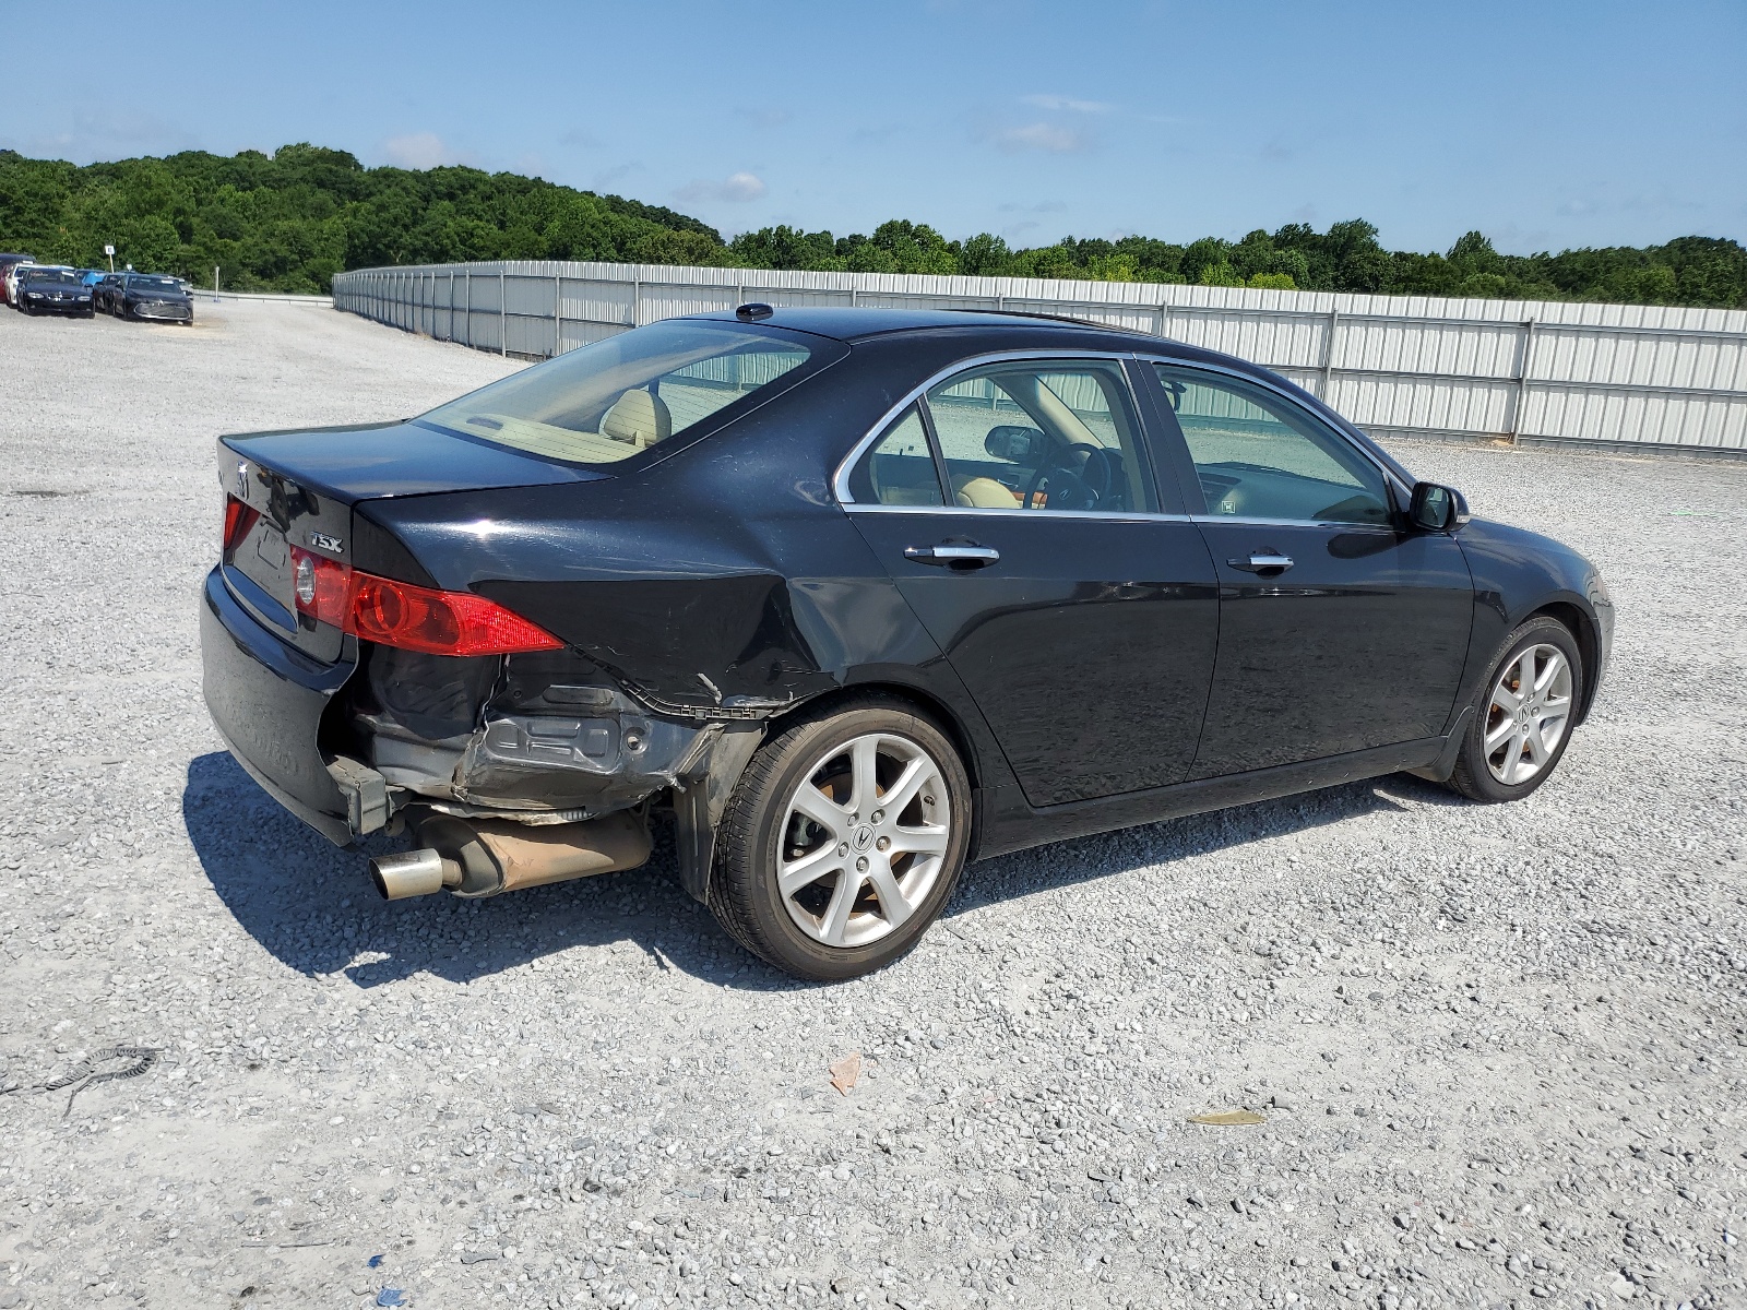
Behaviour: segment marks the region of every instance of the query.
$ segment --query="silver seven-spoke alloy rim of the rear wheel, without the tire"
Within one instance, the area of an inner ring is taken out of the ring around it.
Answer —
[[[832,748],[783,817],[783,908],[828,947],[879,941],[940,880],[954,821],[940,765],[917,742],[870,732]]]

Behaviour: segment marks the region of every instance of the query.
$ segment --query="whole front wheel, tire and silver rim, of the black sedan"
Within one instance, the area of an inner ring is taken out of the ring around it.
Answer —
[[[1583,693],[1583,653],[1571,629],[1537,615],[1504,639],[1480,685],[1450,786],[1469,800],[1522,800],[1571,744]]]

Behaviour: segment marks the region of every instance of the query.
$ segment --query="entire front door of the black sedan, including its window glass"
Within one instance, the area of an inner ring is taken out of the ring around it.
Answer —
[[[1190,776],[1441,734],[1473,624],[1455,540],[1403,531],[1391,475],[1293,396],[1214,369],[1148,372],[1158,454],[1191,479],[1219,576]]]

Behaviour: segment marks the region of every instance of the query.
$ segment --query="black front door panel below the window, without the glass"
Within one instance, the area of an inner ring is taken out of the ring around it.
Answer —
[[[1191,777],[1436,737],[1455,699],[1473,582],[1443,534],[1202,519],[1219,657]],[[1228,561],[1293,561],[1260,576]]]

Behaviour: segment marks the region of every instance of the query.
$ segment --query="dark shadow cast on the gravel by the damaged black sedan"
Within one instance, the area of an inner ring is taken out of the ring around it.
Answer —
[[[994,901],[1401,809],[1391,793],[1417,803],[1460,803],[1429,783],[1389,777],[1059,842],[973,865],[947,922]],[[383,901],[365,875],[365,858],[404,842],[372,838],[363,851],[330,845],[229,753],[189,763],[182,817],[201,868],[238,924],[307,976],[344,973],[358,987],[379,987],[426,973],[466,983],[585,947],[631,948],[653,968],[741,990],[809,987],[741,950],[680,889],[664,828],[655,858],[641,870],[480,901]]]

